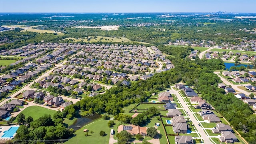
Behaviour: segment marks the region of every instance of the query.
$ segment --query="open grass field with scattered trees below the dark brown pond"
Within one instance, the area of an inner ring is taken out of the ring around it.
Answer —
[[[83,130],[85,128],[88,129],[89,136],[84,136],[85,132],[83,132]],[[91,130],[93,131],[93,133],[90,133]],[[105,136],[100,136],[101,130],[106,132]],[[86,124],[85,126],[82,126],[82,128],[74,133],[75,136],[65,142],[65,144],[76,144],[76,142],[78,142],[79,144],[87,144],[90,142],[93,142],[94,144],[108,144],[110,130],[111,128],[108,127],[108,120],[103,120],[102,118],[100,118],[98,120],[90,122],[89,124]],[[116,128],[114,128],[114,130],[116,131]]]

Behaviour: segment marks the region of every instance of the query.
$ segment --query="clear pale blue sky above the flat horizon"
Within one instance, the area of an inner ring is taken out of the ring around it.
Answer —
[[[256,0],[0,0],[0,12],[256,12]]]

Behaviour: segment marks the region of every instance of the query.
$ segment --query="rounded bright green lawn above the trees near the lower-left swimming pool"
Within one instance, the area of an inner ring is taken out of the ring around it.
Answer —
[[[55,113],[56,113],[56,110],[50,110],[48,108],[43,108],[40,106],[29,106],[22,111],[22,114],[24,114],[26,117],[32,116],[34,120],[38,119],[44,114],[50,114],[51,116],[53,116],[53,114]],[[16,122],[16,120],[14,120],[14,122]]]

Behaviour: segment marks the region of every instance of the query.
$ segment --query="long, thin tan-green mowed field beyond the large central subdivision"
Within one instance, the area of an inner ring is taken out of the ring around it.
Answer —
[[[88,41],[87,39],[76,39],[76,38],[65,38],[65,39],[71,39],[75,42],[80,42],[80,41],[84,41],[84,42],[98,42],[98,41],[102,41],[102,42],[135,42],[135,41],[131,41],[129,40],[128,38],[111,38],[111,37],[108,37],[108,36],[97,36],[96,39],[94,39],[93,37],[94,36],[89,36],[89,37],[92,37],[90,39],[90,41]],[[103,40],[100,40],[100,38],[103,38]],[[145,42],[141,42],[141,43],[145,43]],[[147,44],[147,43],[145,43]]]

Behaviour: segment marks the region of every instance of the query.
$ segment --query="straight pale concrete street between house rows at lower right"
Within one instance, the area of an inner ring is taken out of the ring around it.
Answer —
[[[180,104],[183,106],[184,110],[188,113],[188,117],[190,118],[190,120],[193,122],[194,126],[196,127],[196,129],[198,130],[198,133],[201,135],[202,139],[204,140],[205,144],[212,144],[212,142],[210,141],[210,139],[208,138],[208,136],[206,135],[206,133],[204,133],[204,130],[201,126],[199,126],[199,122],[196,120],[196,118],[194,117],[193,113],[190,111],[190,109],[188,108],[188,105],[186,104],[186,102],[183,100],[182,96],[180,96],[179,92],[176,90],[173,90],[172,86],[172,90],[170,90],[171,94],[175,94],[178,98],[178,100],[180,101]]]

